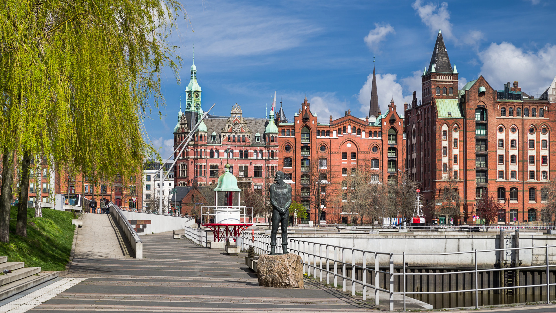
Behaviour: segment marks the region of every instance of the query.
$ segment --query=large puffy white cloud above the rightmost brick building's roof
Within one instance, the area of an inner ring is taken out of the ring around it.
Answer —
[[[481,74],[494,89],[505,82],[519,81],[522,91],[540,94],[556,75],[556,45],[547,44],[537,52],[524,51],[512,43],[491,43],[478,53]]]

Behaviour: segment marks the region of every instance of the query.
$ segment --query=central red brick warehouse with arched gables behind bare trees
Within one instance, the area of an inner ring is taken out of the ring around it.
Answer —
[[[281,115],[284,116],[283,113]],[[294,200],[310,213],[308,221],[316,220],[316,206],[319,205],[312,203],[314,198],[311,199],[308,195],[310,190],[307,190],[310,188],[311,163],[330,169],[327,180],[338,185],[346,180],[347,173],[361,165],[375,170],[373,177],[378,182],[397,179],[400,171],[404,170],[404,119],[393,100],[388,105],[388,111],[381,114],[374,70],[369,116],[357,118],[347,110],[340,118],[330,116],[327,124],[318,123],[317,115],[311,111],[311,104],[305,97],[291,123],[280,120],[280,170],[285,173],[286,181],[292,184]],[[322,191],[326,193],[326,190]],[[339,205],[329,203],[321,208],[321,221],[351,222],[349,215],[341,214],[341,202]]]

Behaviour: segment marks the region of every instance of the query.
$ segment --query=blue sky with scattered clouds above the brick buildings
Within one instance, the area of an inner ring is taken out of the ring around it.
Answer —
[[[403,107],[430,62],[442,29],[460,87],[483,75],[497,89],[519,81],[543,92],[556,76],[556,1],[217,1],[183,2],[188,20],[170,37],[183,58],[181,84],[162,76],[162,119],[145,121],[149,139],[171,153],[180,94],[190,77],[192,46],[203,109],[229,115],[239,104],[246,117],[262,118],[271,95],[282,98],[288,118],[304,99],[319,119],[350,107],[369,110],[376,56],[381,109],[391,97]],[[270,109],[269,109],[270,110]],[[401,110],[400,110],[401,112]]]

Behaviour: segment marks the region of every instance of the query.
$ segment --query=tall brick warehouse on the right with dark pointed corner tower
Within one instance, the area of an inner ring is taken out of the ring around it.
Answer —
[[[408,167],[421,182],[424,204],[441,205],[451,180],[464,199],[462,222],[473,221],[475,199],[486,192],[503,203],[499,223],[540,221],[543,188],[556,174],[553,90],[534,99],[518,82],[497,90],[483,76],[459,90],[441,33],[422,78],[423,99],[405,111],[405,131]]]

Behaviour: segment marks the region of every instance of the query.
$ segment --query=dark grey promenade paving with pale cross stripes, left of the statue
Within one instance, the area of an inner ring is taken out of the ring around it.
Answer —
[[[370,301],[312,280],[306,280],[302,289],[259,287],[256,274],[245,265],[244,253],[227,256],[222,250],[201,248],[186,239],[172,239],[172,233],[147,234],[141,238],[144,258],[140,260],[77,257],[76,253],[67,277],[87,279],[29,312],[375,310]]]

